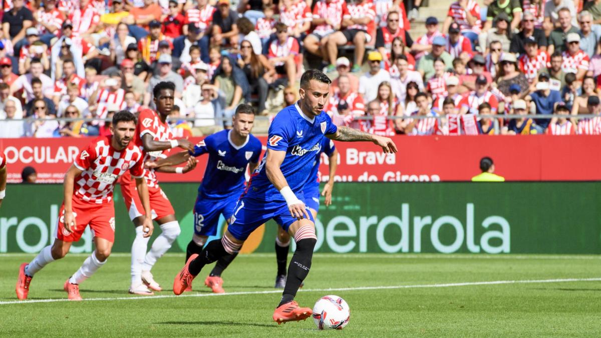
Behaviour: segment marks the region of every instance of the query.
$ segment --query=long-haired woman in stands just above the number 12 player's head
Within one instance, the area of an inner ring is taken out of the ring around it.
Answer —
[[[244,72],[229,57],[222,57],[215,72],[215,87],[219,88],[219,99],[224,107],[217,118],[223,119],[225,129],[231,129],[231,118],[240,103],[248,101],[250,87]],[[221,123],[220,123],[221,124]]]

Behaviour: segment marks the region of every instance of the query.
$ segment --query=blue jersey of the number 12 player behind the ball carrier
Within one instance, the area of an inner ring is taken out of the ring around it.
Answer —
[[[209,153],[198,194],[219,198],[234,192],[241,193],[244,189],[246,165],[258,162],[261,141],[248,135],[246,142],[238,147],[231,141],[230,132],[225,130],[209,135],[194,146],[194,153],[190,152],[194,156]]]

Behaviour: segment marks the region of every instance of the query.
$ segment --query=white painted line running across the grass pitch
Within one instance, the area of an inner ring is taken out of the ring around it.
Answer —
[[[423,287],[454,287],[454,286],[479,286],[479,285],[498,285],[498,284],[533,284],[533,283],[566,283],[570,281],[601,281],[601,278],[561,278],[561,279],[541,279],[541,280],[495,280],[495,281],[469,281],[463,283],[442,283],[442,284],[415,284],[415,285],[391,285],[391,286],[358,286],[358,287],[334,287],[331,289],[301,289],[299,292],[330,292],[330,291],[357,291],[357,290],[389,290],[389,289],[417,289]],[[112,298],[86,298],[84,301],[129,301],[129,300],[156,300],[160,298],[184,298],[184,297],[223,297],[236,295],[262,295],[266,293],[281,293],[282,290],[265,291],[241,291],[227,293],[186,293],[185,295],[160,295],[160,296],[133,296],[133,297],[112,297]],[[55,303],[69,301],[67,298],[49,299],[49,300],[29,300],[29,301],[0,301],[0,305],[7,304],[30,304],[30,303]]]

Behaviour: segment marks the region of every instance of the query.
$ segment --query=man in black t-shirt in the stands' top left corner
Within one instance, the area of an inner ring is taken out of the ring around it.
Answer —
[[[24,6],[23,0],[13,0],[13,8],[2,15],[2,32],[14,46],[14,54],[19,55],[25,43],[25,31],[33,25],[33,14]]]

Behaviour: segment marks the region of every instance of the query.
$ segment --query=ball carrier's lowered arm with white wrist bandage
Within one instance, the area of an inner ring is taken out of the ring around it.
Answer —
[[[267,162],[265,164],[267,179],[269,179],[286,200],[288,210],[290,210],[292,217],[297,218],[297,220],[300,220],[301,218],[308,219],[309,214],[307,213],[307,209],[305,209],[305,203],[294,195],[294,192],[290,189],[290,186],[288,186],[284,174],[282,174],[282,170],[279,168],[282,165],[282,162],[284,162],[286,152],[284,150],[267,149],[265,156],[267,156]]]

